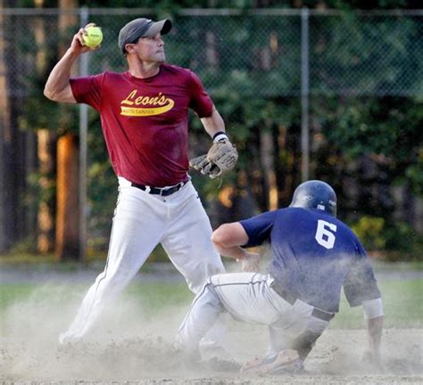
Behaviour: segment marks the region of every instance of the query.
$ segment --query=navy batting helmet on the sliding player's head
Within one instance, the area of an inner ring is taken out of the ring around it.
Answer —
[[[318,180],[300,184],[294,191],[290,207],[321,209],[336,217],[336,193],[327,183]]]

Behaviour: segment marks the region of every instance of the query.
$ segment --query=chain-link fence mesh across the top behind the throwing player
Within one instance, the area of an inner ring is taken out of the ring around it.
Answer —
[[[0,10],[2,59],[15,76],[10,96],[31,95],[34,79],[58,47],[85,20],[104,30],[102,49],[90,55],[89,73],[126,70],[117,46],[120,28],[136,17],[161,16],[149,10]],[[214,14],[215,13],[215,14]],[[237,85],[241,94],[299,95],[302,23],[308,42],[312,94],[423,94],[423,12],[181,12],[166,37],[167,59],[201,74],[211,94]],[[85,19],[85,20],[84,20]],[[60,51],[60,49],[59,49]],[[246,79],[246,83],[241,79]]]

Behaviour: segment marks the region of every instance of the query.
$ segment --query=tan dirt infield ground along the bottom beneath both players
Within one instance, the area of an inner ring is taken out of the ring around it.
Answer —
[[[231,328],[232,329],[232,328]],[[0,379],[18,383],[125,384],[409,384],[423,383],[421,330],[386,330],[384,369],[361,363],[366,346],[364,331],[327,331],[306,361],[306,372],[257,377],[234,368],[212,365],[187,367],[170,340],[161,336],[91,342],[62,349],[48,341],[37,344],[1,341]],[[261,356],[266,348],[262,327],[236,324],[225,346],[236,361]]]

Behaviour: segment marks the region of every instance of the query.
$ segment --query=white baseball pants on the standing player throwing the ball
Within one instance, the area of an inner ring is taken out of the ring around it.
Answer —
[[[89,332],[107,301],[129,284],[159,242],[194,293],[209,276],[225,271],[211,243],[209,218],[191,182],[167,197],[145,193],[122,177],[119,184],[104,272],[87,291],[71,327],[59,338],[61,343],[80,340]]]

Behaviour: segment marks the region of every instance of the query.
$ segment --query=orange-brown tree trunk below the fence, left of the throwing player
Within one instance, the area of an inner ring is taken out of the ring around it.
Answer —
[[[57,142],[57,221],[58,260],[79,257],[79,147],[75,135],[63,135]],[[76,192],[76,193],[75,193]]]

